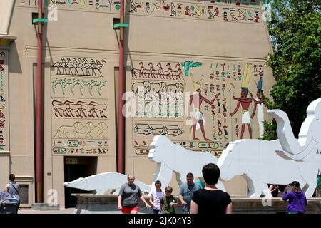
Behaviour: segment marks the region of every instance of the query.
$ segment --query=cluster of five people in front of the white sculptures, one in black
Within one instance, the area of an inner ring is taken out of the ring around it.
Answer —
[[[203,178],[194,182],[193,173],[186,175],[186,181],[180,186],[179,202],[183,205],[183,212],[188,214],[230,214],[232,213],[232,201],[227,192],[216,187],[220,177],[220,169],[214,163],[203,166]],[[118,209],[123,213],[138,213],[138,198],[148,209],[151,205],[146,202],[141,190],[133,182],[135,177],[128,175],[128,182],[121,186],[118,195]],[[204,183],[205,182],[205,183]],[[175,214],[178,199],[173,195],[173,188],[161,189],[161,181],[155,182],[156,190],[151,192],[149,201],[153,206],[154,214]]]

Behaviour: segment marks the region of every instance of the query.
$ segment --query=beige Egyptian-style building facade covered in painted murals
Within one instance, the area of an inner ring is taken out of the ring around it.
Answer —
[[[35,202],[36,189],[31,21],[37,2],[0,1],[0,185],[13,172],[24,207]],[[113,24],[120,3],[49,0],[44,6],[44,202],[73,207],[71,193],[80,191],[63,182],[117,170],[119,31]],[[243,91],[259,102],[258,92],[268,96],[275,83],[265,66],[272,46],[259,1],[126,1],[125,14],[126,173],[151,183],[156,164],[147,155],[155,135],[217,157],[241,138],[242,128],[243,138],[262,135],[266,108],[254,100],[244,108],[236,100]],[[209,102],[192,103],[188,112],[198,89]],[[204,134],[201,125],[193,130],[194,120],[202,120]],[[170,184],[178,194],[175,172]],[[246,195],[243,177],[225,188]]]

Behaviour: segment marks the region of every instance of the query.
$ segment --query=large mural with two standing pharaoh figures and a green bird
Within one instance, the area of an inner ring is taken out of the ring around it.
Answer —
[[[260,137],[264,68],[252,61],[137,61],[131,69],[134,154],[148,154],[155,135],[214,155],[230,141]]]

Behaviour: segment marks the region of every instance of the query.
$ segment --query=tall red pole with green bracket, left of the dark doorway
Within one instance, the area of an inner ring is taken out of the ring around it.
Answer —
[[[42,0],[38,0],[38,18],[42,18]],[[43,202],[42,194],[42,24],[37,32],[37,76],[36,76],[36,202]]]

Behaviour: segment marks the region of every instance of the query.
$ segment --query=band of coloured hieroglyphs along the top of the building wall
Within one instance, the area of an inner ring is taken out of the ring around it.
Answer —
[[[100,11],[118,14],[118,0],[46,0],[45,6],[54,4],[55,9]],[[37,6],[37,0],[19,0],[18,6]],[[241,23],[262,23],[255,0],[216,1],[161,1],[126,0],[126,13],[140,16],[167,16],[181,19],[206,19]]]

